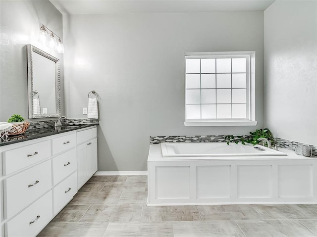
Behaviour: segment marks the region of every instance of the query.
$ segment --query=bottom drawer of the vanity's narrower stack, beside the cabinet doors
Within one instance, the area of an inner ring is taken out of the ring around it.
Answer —
[[[77,193],[77,172],[53,188],[54,215],[56,215]]]

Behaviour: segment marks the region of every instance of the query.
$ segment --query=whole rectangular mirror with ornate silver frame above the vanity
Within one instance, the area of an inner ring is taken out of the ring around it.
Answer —
[[[60,62],[27,45],[29,118],[60,117]]]

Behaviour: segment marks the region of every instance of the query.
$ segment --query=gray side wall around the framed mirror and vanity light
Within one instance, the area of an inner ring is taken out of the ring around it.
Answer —
[[[62,14],[50,1],[0,0],[0,122],[14,113],[28,119],[26,44],[45,50],[38,43],[41,24],[62,39]],[[47,52],[60,59],[63,83],[63,54]],[[61,109],[64,114],[64,106]]]

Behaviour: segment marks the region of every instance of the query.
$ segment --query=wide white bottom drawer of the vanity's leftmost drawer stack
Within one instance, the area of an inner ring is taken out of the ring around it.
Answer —
[[[52,190],[6,223],[7,237],[34,237],[52,219]]]

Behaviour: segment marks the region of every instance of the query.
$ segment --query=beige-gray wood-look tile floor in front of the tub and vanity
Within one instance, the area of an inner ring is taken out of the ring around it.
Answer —
[[[317,237],[317,204],[146,202],[146,175],[93,176],[38,237]]]

